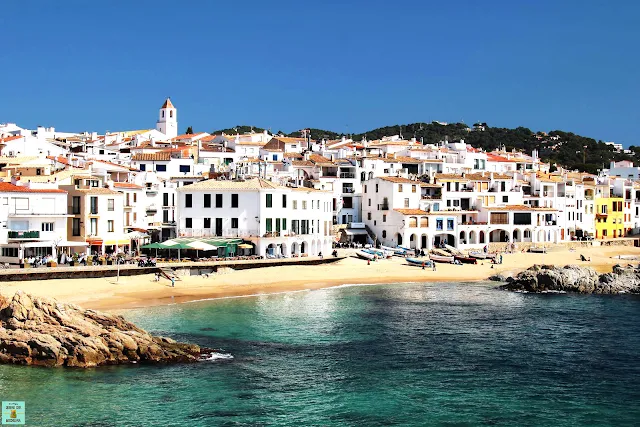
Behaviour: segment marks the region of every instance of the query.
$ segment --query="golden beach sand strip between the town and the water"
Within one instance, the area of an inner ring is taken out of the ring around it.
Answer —
[[[340,254],[352,251],[340,250]],[[580,254],[591,257],[581,262]],[[112,310],[181,303],[206,298],[222,298],[268,294],[304,289],[319,289],[356,283],[401,283],[433,281],[478,281],[493,274],[517,274],[533,264],[590,265],[599,272],[611,271],[617,263],[637,264],[619,260],[618,255],[634,255],[640,259],[640,249],[625,246],[583,248],[571,252],[554,248],[547,254],[504,254],[503,264],[491,268],[490,262],[477,265],[437,264],[436,271],[407,265],[402,258],[367,262],[349,257],[333,264],[318,266],[267,267],[226,271],[202,276],[184,276],[175,288],[166,279],[154,281],[153,275],[102,279],[60,279],[48,281],[0,282],[0,293],[12,296],[21,289],[33,295],[56,298],[85,308]]]

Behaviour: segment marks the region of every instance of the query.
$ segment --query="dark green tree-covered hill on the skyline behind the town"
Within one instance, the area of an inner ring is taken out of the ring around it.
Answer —
[[[238,132],[242,134],[251,130],[262,132],[264,129],[237,126],[236,128],[218,130],[214,133],[235,134]],[[338,139],[343,135],[323,129],[310,129],[310,132],[312,139]],[[284,134],[281,131],[276,133]],[[516,151],[531,154],[536,149],[540,158],[545,162],[556,163],[568,169],[577,169],[594,174],[597,173],[598,169],[608,168],[611,161],[634,160],[633,155],[618,153],[612,146],[605,144],[603,141],[561,130],[536,133],[525,127],[509,129],[484,126],[484,130],[470,130],[470,127],[464,123],[412,123],[381,127],[360,134],[348,135],[348,137],[354,141],[360,141],[363,138],[371,141],[393,135],[402,135],[405,139],[416,138],[416,140],[422,141],[423,144],[437,144],[445,140],[459,141],[464,139],[471,146],[482,148],[485,151],[504,147],[507,151],[515,149]],[[286,134],[286,136],[299,137],[301,133],[296,131]],[[632,146],[630,150],[634,154],[640,155],[640,147]]]

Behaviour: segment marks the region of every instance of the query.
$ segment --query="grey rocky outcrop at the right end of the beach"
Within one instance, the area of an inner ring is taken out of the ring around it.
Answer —
[[[598,275],[591,267],[534,265],[508,278],[501,289],[526,292],[576,292],[582,294],[640,293],[640,270],[614,266]]]

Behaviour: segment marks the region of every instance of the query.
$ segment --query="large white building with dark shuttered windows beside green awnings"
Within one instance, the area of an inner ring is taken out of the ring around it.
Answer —
[[[207,180],[177,191],[179,237],[241,237],[262,256],[331,251],[331,193],[260,178]]]

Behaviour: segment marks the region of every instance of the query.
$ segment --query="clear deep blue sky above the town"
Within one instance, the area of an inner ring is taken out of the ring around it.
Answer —
[[[615,5],[614,5],[615,3]],[[18,1],[0,122],[357,133],[440,120],[640,145],[633,1]]]

